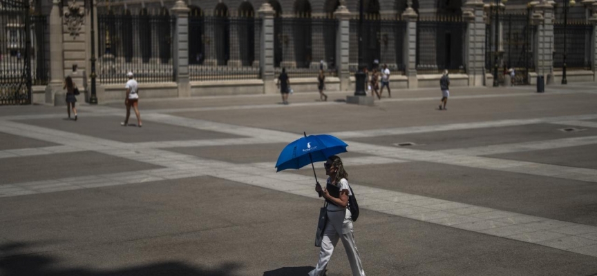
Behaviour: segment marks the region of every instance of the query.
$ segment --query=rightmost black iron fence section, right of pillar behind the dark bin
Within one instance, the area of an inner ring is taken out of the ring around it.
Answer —
[[[566,70],[591,70],[592,34],[593,26],[585,21],[569,20],[566,28],[563,22],[556,22],[553,25],[554,69],[562,70],[566,46]]]

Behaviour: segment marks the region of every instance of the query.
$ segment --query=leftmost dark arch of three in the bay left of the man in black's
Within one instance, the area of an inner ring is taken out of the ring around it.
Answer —
[[[205,60],[203,11],[197,6],[189,8],[189,64],[203,64]]]

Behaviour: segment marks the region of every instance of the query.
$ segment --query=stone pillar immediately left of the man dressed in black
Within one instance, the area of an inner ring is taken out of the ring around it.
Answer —
[[[276,12],[269,3],[263,3],[258,13],[263,24],[261,27],[261,52],[259,55],[263,93],[275,94],[278,92],[274,79],[274,14]]]

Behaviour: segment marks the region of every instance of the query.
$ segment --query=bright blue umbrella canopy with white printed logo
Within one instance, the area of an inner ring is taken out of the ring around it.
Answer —
[[[288,144],[278,157],[278,172],[303,168],[312,162],[325,161],[332,155],[346,152],[348,144],[332,135],[309,135]]]

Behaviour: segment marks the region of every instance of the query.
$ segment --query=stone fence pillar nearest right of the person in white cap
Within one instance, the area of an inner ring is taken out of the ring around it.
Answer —
[[[176,1],[172,8],[176,17],[174,30],[174,68],[178,82],[178,97],[191,97],[189,81],[189,8],[182,0]]]

